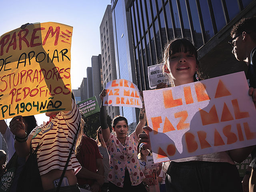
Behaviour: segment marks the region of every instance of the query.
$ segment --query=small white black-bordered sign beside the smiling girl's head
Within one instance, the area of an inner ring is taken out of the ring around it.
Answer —
[[[164,64],[148,66],[148,79],[150,89],[156,88],[159,83],[167,83],[165,73],[163,72]]]

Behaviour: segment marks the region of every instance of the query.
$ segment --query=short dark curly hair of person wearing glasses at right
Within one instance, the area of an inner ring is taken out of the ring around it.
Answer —
[[[242,32],[246,32],[250,35],[252,40],[256,43],[256,16],[242,18],[236,24],[234,24],[230,36],[242,34]]]

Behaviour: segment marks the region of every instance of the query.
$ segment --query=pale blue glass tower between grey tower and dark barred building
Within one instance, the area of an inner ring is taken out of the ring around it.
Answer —
[[[127,1],[112,0],[111,3],[116,57],[116,76],[117,79],[126,79],[137,84],[130,14],[129,12],[126,12]],[[138,120],[138,110],[131,107],[120,107],[120,115],[127,118],[130,130],[135,130]]]

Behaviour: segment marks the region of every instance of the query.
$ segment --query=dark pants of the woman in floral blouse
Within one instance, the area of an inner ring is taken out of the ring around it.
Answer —
[[[128,170],[125,170],[124,187],[118,187],[112,182],[108,184],[109,192],[147,192],[142,182],[136,186],[132,186]]]

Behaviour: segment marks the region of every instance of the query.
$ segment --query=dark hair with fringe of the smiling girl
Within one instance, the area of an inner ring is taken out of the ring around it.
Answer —
[[[198,70],[196,71],[195,75],[198,75],[199,80],[203,80],[204,78],[202,77],[201,71],[201,64],[198,61],[198,54],[196,47],[188,40],[187,38],[175,38],[166,43],[166,46],[164,48],[164,56],[163,56],[163,63],[164,67],[167,66],[168,59],[170,55],[176,54],[178,52],[189,52],[190,54],[193,54],[196,58],[196,64],[198,67]],[[163,68],[164,71],[164,68]],[[194,81],[196,80],[196,76],[194,75]],[[173,86],[173,80],[172,80],[172,74],[167,74],[165,73],[165,77],[167,78],[167,82]]]

